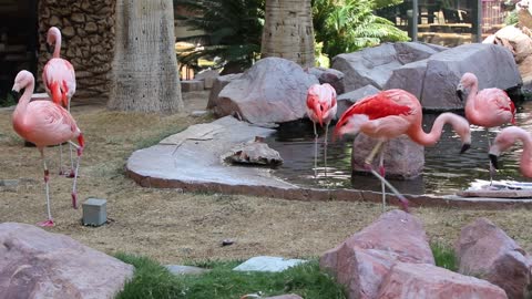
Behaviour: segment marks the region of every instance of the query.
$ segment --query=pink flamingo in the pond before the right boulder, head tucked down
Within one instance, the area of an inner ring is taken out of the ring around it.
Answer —
[[[464,73],[457,87],[457,94],[463,101],[463,93],[469,91],[466,100],[466,117],[471,124],[483,126],[491,146],[489,128],[508,123],[515,124],[515,105],[508,94],[500,89],[479,91],[479,80],[472,73]],[[490,163],[490,183],[493,181]]]

